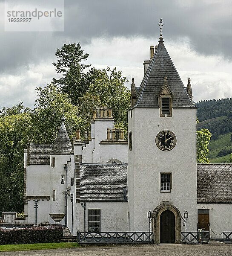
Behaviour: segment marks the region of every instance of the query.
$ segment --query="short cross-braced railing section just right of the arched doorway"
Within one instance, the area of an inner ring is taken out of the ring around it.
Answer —
[[[182,244],[208,244],[209,231],[204,232],[181,232]]]

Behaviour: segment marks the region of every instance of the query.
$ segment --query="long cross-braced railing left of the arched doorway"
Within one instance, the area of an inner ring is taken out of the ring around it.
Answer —
[[[151,243],[152,232],[77,232],[78,243]]]

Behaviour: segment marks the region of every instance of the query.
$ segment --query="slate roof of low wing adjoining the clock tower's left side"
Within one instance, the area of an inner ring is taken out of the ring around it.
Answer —
[[[80,163],[81,201],[127,201],[126,164]]]

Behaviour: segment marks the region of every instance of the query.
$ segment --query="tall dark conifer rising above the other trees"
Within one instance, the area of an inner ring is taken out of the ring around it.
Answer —
[[[88,82],[83,70],[90,65],[84,65],[82,61],[86,61],[89,54],[84,54],[80,44],[74,43],[64,44],[61,49],[57,49],[55,55],[57,62],[53,62],[53,65],[55,71],[62,74],[62,77],[53,80],[60,85],[63,93],[69,93],[72,104],[77,105],[78,97],[88,90]]]

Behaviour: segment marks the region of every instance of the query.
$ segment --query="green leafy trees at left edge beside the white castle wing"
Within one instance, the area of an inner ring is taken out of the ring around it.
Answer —
[[[15,111],[17,106],[0,115],[0,212],[23,209],[23,151],[31,114],[19,113],[23,105]]]

